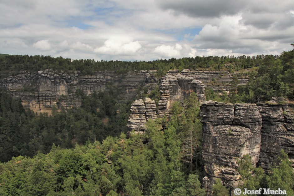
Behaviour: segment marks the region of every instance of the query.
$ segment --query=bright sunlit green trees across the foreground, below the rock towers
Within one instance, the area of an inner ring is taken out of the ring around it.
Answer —
[[[15,109],[21,110],[19,103],[15,105]],[[145,143],[134,132],[129,138],[120,133],[117,137],[107,136],[93,143],[88,140],[85,145],[76,144],[69,149],[52,144],[47,154],[38,153],[32,158],[18,156],[0,163],[0,194],[205,195],[200,187],[204,175],[202,125],[197,118],[196,94],[183,105],[173,104],[171,113],[169,119],[148,121],[143,135],[147,138]],[[160,124],[163,130],[158,131]],[[279,187],[293,195],[294,174],[285,153],[281,152],[268,174],[261,168],[252,168],[249,156],[243,157],[239,164],[245,180],[240,187]],[[220,181],[212,188],[215,195],[229,195]]]

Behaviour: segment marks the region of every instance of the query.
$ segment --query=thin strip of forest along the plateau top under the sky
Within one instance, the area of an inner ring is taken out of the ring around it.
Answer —
[[[290,52],[290,51],[289,51]],[[208,56],[208,57],[189,57],[189,58],[170,58],[154,61],[95,61],[94,59],[73,60],[70,58],[43,55],[6,55],[0,54],[0,71],[19,72],[24,70],[39,71],[44,69],[63,70],[70,73],[75,70],[85,74],[91,74],[99,70],[115,70],[118,73],[124,73],[129,70],[157,70],[159,76],[171,69],[205,69],[205,70],[228,70],[230,72],[242,69],[259,67],[270,61],[280,60],[280,63],[289,63],[293,59],[293,53],[283,52],[281,56],[274,55],[256,55],[256,56]],[[291,62],[290,62],[291,63]]]

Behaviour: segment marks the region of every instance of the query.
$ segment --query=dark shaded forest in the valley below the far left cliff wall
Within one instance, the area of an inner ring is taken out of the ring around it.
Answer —
[[[55,107],[52,115],[37,116],[25,110],[19,99],[0,92],[0,161],[48,153],[53,143],[72,148],[75,143],[102,141],[126,131],[130,105],[116,104],[116,92],[94,92],[87,96],[77,89],[76,96],[82,99],[81,108],[58,112]]]

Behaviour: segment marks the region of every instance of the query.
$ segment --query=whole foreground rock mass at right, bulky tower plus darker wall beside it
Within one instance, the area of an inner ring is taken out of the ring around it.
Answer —
[[[215,178],[231,188],[240,180],[237,159],[251,156],[253,166],[267,170],[283,149],[294,163],[294,105],[274,101],[230,104],[207,101],[200,105],[203,160],[207,194]],[[293,165],[294,167],[294,165]]]

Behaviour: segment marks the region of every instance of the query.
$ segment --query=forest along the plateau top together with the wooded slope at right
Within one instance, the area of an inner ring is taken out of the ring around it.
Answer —
[[[135,70],[157,70],[158,77],[163,76],[171,69],[190,70],[226,70],[235,72],[231,83],[231,93],[219,99],[218,95],[207,96],[230,103],[255,103],[268,101],[273,96],[294,98],[294,49],[284,51],[280,56],[256,55],[250,56],[222,56],[222,57],[195,57],[195,58],[171,58],[155,61],[95,61],[94,59],[72,60],[70,58],[53,58],[43,55],[5,55],[0,54],[0,77],[17,74],[19,71],[39,71],[44,69],[63,70],[70,73],[81,71],[84,74],[92,74],[100,70],[113,70],[117,73],[125,73]],[[251,71],[248,71],[250,69]],[[249,77],[251,80],[244,87],[238,86],[237,76]],[[234,78],[235,77],[235,78]],[[209,90],[209,89],[208,89]],[[235,93],[234,93],[235,92]]]

